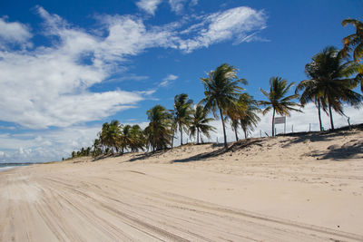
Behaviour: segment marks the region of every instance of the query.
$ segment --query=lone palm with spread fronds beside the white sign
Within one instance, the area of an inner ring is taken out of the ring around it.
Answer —
[[[288,85],[288,81],[282,79],[281,77],[271,77],[270,78],[270,92],[266,92],[260,88],[260,92],[267,97],[269,101],[260,101],[260,104],[267,106],[262,114],[265,115],[268,111],[272,109],[272,136],[275,136],[275,113],[280,115],[286,115],[289,117],[290,111],[299,111],[293,107],[300,106],[299,103],[291,102],[291,100],[299,98],[299,94],[293,94],[286,96],[289,92],[290,87],[294,84],[291,82]]]

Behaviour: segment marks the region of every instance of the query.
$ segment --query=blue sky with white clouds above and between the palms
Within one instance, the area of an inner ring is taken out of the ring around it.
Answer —
[[[201,78],[221,63],[265,100],[270,77],[305,80],[315,53],[341,48],[354,32],[341,21],[361,20],[362,10],[359,0],[1,1],[0,162],[67,158],[90,146],[105,121],[145,127],[146,111],[172,109],[177,94],[201,101]],[[317,131],[315,106],[301,111],[287,131]],[[363,120],[362,110],[345,112],[351,123]],[[270,120],[261,116],[251,135],[270,135]],[[329,117],[323,124],[329,129]],[[210,141],[221,141],[221,121],[212,125]]]

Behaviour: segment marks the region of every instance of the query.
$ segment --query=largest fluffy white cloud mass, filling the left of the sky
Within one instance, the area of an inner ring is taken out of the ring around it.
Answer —
[[[101,38],[71,28],[60,16],[38,7],[47,34],[59,39],[51,47],[30,51],[0,51],[0,111],[2,121],[39,129],[66,127],[101,120],[117,111],[135,107],[142,92],[93,93],[127,55],[165,44],[163,30],[147,31],[131,16],[105,16],[108,35]],[[89,62],[83,59],[89,56]]]

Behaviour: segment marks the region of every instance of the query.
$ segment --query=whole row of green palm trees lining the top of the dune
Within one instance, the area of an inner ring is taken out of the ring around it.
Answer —
[[[270,78],[270,91],[260,88],[260,92],[267,98],[266,101],[257,102],[241,85],[248,82],[237,76],[237,69],[228,63],[223,63],[215,70],[201,78],[204,85],[204,98],[195,109],[193,102],[186,93],[176,95],[173,110],[167,110],[162,105],[156,105],[147,116],[149,125],[142,131],[139,125],[125,125],[119,121],[103,123],[99,138],[93,142],[93,155],[102,153],[124,152],[125,150],[163,150],[173,147],[176,132],[180,133],[181,145],[183,133],[196,137],[200,143],[201,134],[210,138],[210,132],[215,131],[209,123],[221,118],[224,147],[227,148],[226,122],[231,122],[236,140],[239,140],[239,126],[245,139],[260,121],[261,113],[265,115],[272,111],[272,136],[275,135],[275,115],[289,116],[291,111],[301,111],[307,103],[313,102],[318,108],[319,127],[321,124],[321,110],[329,115],[331,130],[334,130],[332,110],[340,115],[345,115],[343,105],[348,103],[358,108],[363,97],[354,89],[360,82],[363,92],[363,67],[359,63],[363,56],[363,24],[358,20],[347,19],[343,26],[352,24],[356,27],[356,34],[348,35],[343,39],[344,47],[338,51],[329,46],[314,55],[311,63],[305,66],[308,80],[299,82],[295,93],[290,94],[294,82],[289,83],[281,77]],[[348,60],[353,53],[353,60]],[[353,77],[352,77],[353,76]],[[299,95],[301,92],[301,95]],[[298,102],[293,102],[299,99]],[[90,152],[83,149],[73,152],[73,156],[80,156]]]

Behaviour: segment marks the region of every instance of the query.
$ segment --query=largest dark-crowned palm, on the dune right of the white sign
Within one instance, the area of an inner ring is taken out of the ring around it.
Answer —
[[[352,90],[357,86],[357,79],[347,78],[357,73],[357,69],[343,61],[342,53],[338,53],[335,47],[325,48],[314,55],[312,62],[305,66],[310,80],[303,81],[298,86],[307,92],[303,96],[303,103],[313,98],[313,102],[318,102],[318,109],[321,106],[323,111],[329,111],[331,130],[334,130],[332,110],[344,114],[345,102],[358,107],[362,101],[362,96]]]

